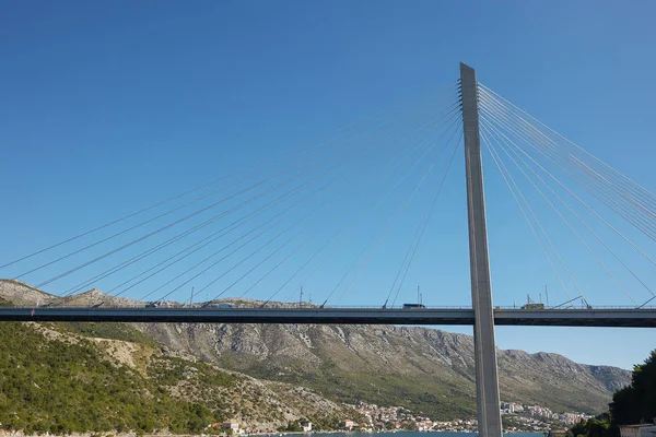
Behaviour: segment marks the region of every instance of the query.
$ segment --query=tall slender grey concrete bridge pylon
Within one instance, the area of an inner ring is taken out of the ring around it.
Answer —
[[[469,262],[471,303],[473,306],[473,343],[476,359],[476,400],[480,437],[501,437],[499,374],[494,341],[494,312],[488,257],[485,199],[479,132],[478,87],[476,72],[460,63],[467,211],[469,217]]]

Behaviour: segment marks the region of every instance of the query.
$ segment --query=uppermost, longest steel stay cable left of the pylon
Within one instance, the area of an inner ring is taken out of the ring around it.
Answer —
[[[440,91],[440,92],[455,91],[456,88],[457,88],[457,87],[456,87],[455,85],[453,85],[453,84],[449,84],[447,87],[443,87],[443,88],[441,88],[441,91]],[[423,99],[423,98],[429,98],[429,96],[433,95],[434,93],[435,93],[435,90],[434,90],[434,91],[431,91],[431,92],[430,92],[430,93],[429,93],[426,96],[421,96],[421,97],[420,97],[420,99]],[[411,99],[411,101],[414,101],[414,98],[413,98],[413,99]],[[54,244],[54,245],[51,245],[51,246],[45,247],[45,248],[43,248],[43,249],[39,249],[39,250],[37,250],[37,251],[35,251],[35,252],[32,252],[32,253],[30,253],[30,255],[26,255],[26,256],[24,256],[24,257],[21,257],[21,258],[19,258],[19,259],[15,259],[15,260],[13,260],[13,261],[10,261],[10,262],[8,262],[8,263],[4,263],[4,264],[0,265],[0,270],[4,269],[4,268],[7,268],[7,267],[10,267],[10,265],[16,264],[16,263],[19,263],[19,262],[21,262],[21,261],[24,261],[24,260],[26,260],[26,259],[33,258],[33,257],[35,257],[35,256],[37,256],[37,255],[44,253],[44,252],[46,252],[46,251],[49,251],[49,250],[51,250],[51,249],[55,249],[55,248],[57,248],[57,247],[63,246],[63,245],[66,245],[66,244],[68,244],[68,243],[74,241],[74,240],[77,240],[77,239],[79,239],[79,238],[82,238],[82,237],[84,237],[84,236],[91,235],[91,234],[93,234],[93,233],[95,233],[95,232],[97,232],[97,231],[101,231],[101,229],[104,229],[104,228],[106,228],[106,227],[113,226],[113,225],[115,225],[115,224],[117,224],[117,223],[124,222],[124,221],[126,221],[126,220],[128,220],[128,218],[131,218],[131,217],[133,217],[133,216],[140,215],[140,214],[142,214],[142,213],[144,213],[144,212],[148,212],[148,211],[150,211],[150,210],[153,210],[153,209],[155,209],[155,208],[157,208],[157,206],[161,206],[161,205],[163,205],[163,204],[169,203],[169,202],[172,202],[172,201],[174,201],[174,200],[180,199],[180,198],[183,198],[183,197],[185,197],[185,196],[187,196],[187,194],[190,194],[190,193],[192,193],[192,192],[196,192],[196,191],[198,191],[198,190],[201,190],[201,189],[203,189],[203,188],[206,188],[206,187],[209,187],[209,186],[211,186],[211,185],[214,185],[214,184],[216,184],[216,182],[219,182],[219,181],[221,181],[221,180],[224,180],[224,179],[231,178],[231,177],[233,177],[233,176],[236,176],[236,175],[238,175],[238,174],[241,174],[241,173],[244,173],[244,172],[246,172],[246,170],[248,170],[248,169],[250,169],[250,168],[253,168],[253,167],[257,167],[257,166],[259,166],[259,165],[261,165],[261,164],[265,164],[265,163],[270,163],[270,162],[271,162],[271,160],[272,160],[272,158],[276,158],[277,156],[282,156],[282,155],[285,155],[285,154],[288,154],[288,153],[292,153],[292,152],[294,152],[294,151],[295,151],[295,150],[297,150],[297,149],[302,149],[302,147],[305,147],[307,144],[312,144],[312,143],[313,143],[314,141],[316,141],[316,140],[320,140],[320,139],[323,139],[323,138],[330,137],[330,135],[332,135],[333,133],[336,133],[336,132],[339,132],[339,131],[341,131],[341,130],[344,130],[344,129],[348,129],[348,128],[350,128],[350,127],[352,127],[352,126],[358,126],[358,123],[360,123],[360,122],[362,122],[362,121],[364,121],[364,120],[367,120],[367,119],[370,119],[370,118],[372,118],[372,117],[374,117],[374,116],[376,116],[376,115],[378,115],[378,114],[385,114],[386,111],[389,111],[390,109],[391,109],[391,108],[387,108],[387,109],[384,109],[384,110],[383,110],[383,111],[380,111],[380,113],[375,113],[375,114],[373,114],[373,115],[366,116],[366,117],[364,117],[362,120],[359,120],[359,121],[352,122],[352,123],[350,123],[350,125],[347,125],[347,126],[344,126],[344,127],[337,128],[337,129],[335,129],[333,131],[331,131],[331,132],[329,132],[329,133],[327,133],[327,134],[320,135],[320,137],[318,137],[318,138],[317,138],[317,139],[315,139],[315,140],[311,140],[311,141],[308,141],[308,142],[306,142],[306,143],[300,144],[298,146],[296,146],[296,147],[293,147],[291,151],[285,151],[285,152],[282,152],[282,153],[280,153],[280,154],[278,154],[278,155],[273,156],[273,157],[267,157],[267,158],[260,160],[260,161],[258,161],[256,164],[254,164],[254,165],[251,165],[251,166],[242,167],[241,169],[237,169],[237,170],[235,170],[235,172],[232,172],[232,173],[230,173],[229,175],[224,175],[224,176],[221,176],[221,177],[219,177],[219,178],[216,178],[216,179],[213,179],[213,180],[211,180],[211,181],[209,181],[209,182],[201,184],[201,185],[199,185],[199,186],[196,186],[196,187],[194,187],[194,188],[191,188],[191,189],[189,189],[189,190],[186,190],[186,191],[184,191],[184,192],[180,192],[180,193],[178,193],[178,194],[175,194],[175,196],[173,196],[173,197],[171,197],[171,198],[168,198],[168,199],[165,199],[165,200],[163,200],[163,201],[156,202],[156,203],[154,203],[154,204],[152,204],[152,205],[150,205],[150,206],[147,206],[147,208],[144,208],[144,209],[141,209],[141,210],[139,210],[139,211],[136,211],[136,212],[133,212],[133,213],[127,214],[127,215],[125,215],[125,216],[122,216],[122,217],[119,217],[119,218],[113,220],[113,221],[110,221],[110,222],[108,222],[108,223],[105,223],[105,224],[103,224],[103,225],[99,225],[99,226],[97,226],[97,227],[94,227],[94,228],[92,228],[92,229],[90,229],[90,231],[85,231],[85,232],[83,232],[83,233],[81,233],[81,234],[78,234],[78,235],[75,235],[75,236],[73,236],[73,237],[67,238],[67,239],[65,239],[65,240],[62,240],[62,241],[56,243],[56,244]],[[296,157],[296,156],[293,156],[293,157]],[[293,158],[293,157],[292,157],[292,158]],[[280,165],[280,164],[279,164],[279,165]],[[268,167],[266,170],[268,170],[268,169],[270,169],[270,168],[273,168],[273,167]]]

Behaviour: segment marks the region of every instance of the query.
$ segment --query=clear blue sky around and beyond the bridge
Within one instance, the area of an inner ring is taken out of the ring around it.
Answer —
[[[0,264],[454,82],[460,61],[656,189],[652,1],[23,1],[1,10]],[[421,284],[429,305],[470,303],[459,154],[454,166],[444,221],[431,224],[405,302]],[[495,302],[555,290],[503,182],[485,169]],[[398,269],[395,256],[414,228],[407,229],[342,304],[384,300],[390,285],[382,272]],[[567,250],[564,232],[557,235]],[[591,303],[629,304],[586,265],[578,275]],[[327,283],[330,272],[318,277]],[[653,267],[642,274],[656,288]],[[46,290],[75,283],[67,281]],[[247,297],[266,298],[279,284]],[[330,286],[314,290],[317,300]],[[497,341],[630,368],[656,347],[656,331],[500,328]]]

